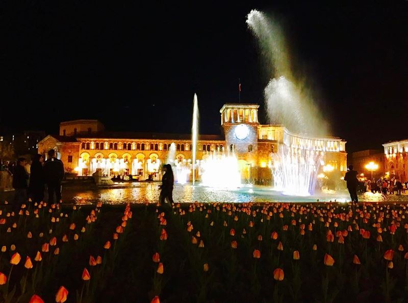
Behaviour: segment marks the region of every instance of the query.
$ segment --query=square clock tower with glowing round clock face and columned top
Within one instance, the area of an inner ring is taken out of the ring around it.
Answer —
[[[220,109],[225,134],[225,150],[234,151],[238,159],[257,163],[258,104],[226,103]]]

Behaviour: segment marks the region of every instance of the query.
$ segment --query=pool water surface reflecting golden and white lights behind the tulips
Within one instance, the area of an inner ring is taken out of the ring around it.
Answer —
[[[64,188],[64,202],[91,204],[101,201],[109,204],[119,203],[156,203],[159,200],[160,189],[157,183],[133,183],[123,184],[120,188],[103,189],[78,189]],[[317,193],[309,197],[285,196],[280,192],[271,190],[265,186],[248,186],[237,189],[223,189],[204,186],[192,186],[191,184],[176,184],[173,190],[175,202],[315,202],[337,201],[347,202],[350,197],[347,191],[337,194]],[[361,201],[408,201],[408,195],[382,196],[379,193],[366,192],[359,196]]]

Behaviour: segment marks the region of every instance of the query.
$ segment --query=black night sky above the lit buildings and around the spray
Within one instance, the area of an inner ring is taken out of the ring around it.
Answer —
[[[348,152],[408,137],[408,1],[191,3],[2,2],[0,131],[56,133],[89,118],[188,133],[196,92],[200,132],[219,133],[238,78],[242,102],[264,102],[268,78],[245,24],[256,8],[283,21],[293,68]]]

